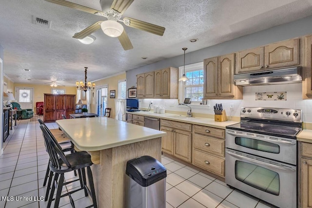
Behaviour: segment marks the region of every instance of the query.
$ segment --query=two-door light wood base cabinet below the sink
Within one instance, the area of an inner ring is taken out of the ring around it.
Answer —
[[[192,124],[160,120],[160,131],[167,132],[162,137],[162,151],[186,162],[192,162]]]

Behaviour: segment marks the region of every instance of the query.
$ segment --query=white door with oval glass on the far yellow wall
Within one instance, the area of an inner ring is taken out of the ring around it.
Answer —
[[[16,88],[15,99],[20,104],[21,109],[33,109],[33,88]]]

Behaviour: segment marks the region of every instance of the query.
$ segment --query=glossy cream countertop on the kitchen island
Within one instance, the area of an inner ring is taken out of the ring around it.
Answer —
[[[62,119],[56,123],[82,151],[104,150],[166,135],[108,117]]]

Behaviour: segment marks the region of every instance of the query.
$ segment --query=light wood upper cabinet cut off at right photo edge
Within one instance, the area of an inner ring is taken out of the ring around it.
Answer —
[[[303,37],[302,98],[312,98],[312,35]]]

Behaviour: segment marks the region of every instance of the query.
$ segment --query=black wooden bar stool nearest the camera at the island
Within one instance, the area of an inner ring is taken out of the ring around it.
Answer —
[[[72,207],[75,207],[74,200],[71,197],[71,194],[83,189],[85,196],[88,196],[88,193],[89,193],[92,198],[93,204],[90,205],[88,208],[91,208],[91,207],[97,208],[98,205],[97,205],[97,199],[96,199],[96,194],[95,194],[95,189],[94,189],[93,176],[92,176],[92,171],[90,168],[93,165],[91,161],[91,155],[88,154],[88,152],[86,151],[79,151],[79,152],[76,151],[74,153],[65,155],[61,147],[59,146],[58,142],[56,142],[55,138],[53,138],[53,135],[49,133],[49,129],[47,129],[42,124],[40,125],[40,129],[44,134],[45,144],[49,152],[49,156],[50,156],[50,170],[54,172],[53,184],[57,184],[57,188],[56,186],[52,186],[52,189],[49,194],[49,201],[48,201],[47,207],[50,208],[52,201],[55,200],[54,207],[58,208],[59,200],[61,197],[64,197],[64,196],[69,196]],[[86,186],[85,168],[87,168],[87,177],[89,179],[90,189]],[[67,190],[67,193],[61,195],[62,187],[64,185],[67,185],[67,184],[70,184],[72,182],[79,180],[77,179],[77,180],[73,180],[69,182],[64,182],[64,173],[70,172],[73,170],[78,170],[79,178],[82,179],[80,180],[81,188],[75,189],[72,191]],[[57,189],[57,193],[56,193],[55,198],[53,198],[55,189]]]

